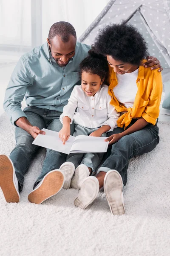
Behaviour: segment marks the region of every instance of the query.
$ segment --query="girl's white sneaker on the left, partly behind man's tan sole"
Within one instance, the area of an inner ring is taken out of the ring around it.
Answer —
[[[59,167],[59,169],[65,174],[65,182],[63,185],[63,189],[69,189],[71,184],[71,178],[74,175],[75,166],[71,162],[65,162]]]

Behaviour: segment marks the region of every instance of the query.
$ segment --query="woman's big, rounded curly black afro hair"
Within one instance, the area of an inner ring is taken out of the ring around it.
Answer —
[[[124,22],[99,30],[94,41],[97,52],[110,55],[116,61],[140,65],[148,55],[147,43],[139,31]]]

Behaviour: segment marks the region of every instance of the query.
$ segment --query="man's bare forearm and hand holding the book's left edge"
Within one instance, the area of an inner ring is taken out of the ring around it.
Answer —
[[[45,131],[41,131],[37,126],[32,126],[25,116],[18,118],[17,121],[15,121],[15,124],[23,130],[27,131],[28,134],[31,134],[34,139],[38,134],[45,134]]]

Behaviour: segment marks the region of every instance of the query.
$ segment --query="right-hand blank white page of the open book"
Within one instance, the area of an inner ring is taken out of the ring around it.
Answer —
[[[93,137],[79,135],[75,138],[71,147],[70,153],[76,152],[91,152],[99,153],[106,152],[109,142],[105,141],[106,137]]]

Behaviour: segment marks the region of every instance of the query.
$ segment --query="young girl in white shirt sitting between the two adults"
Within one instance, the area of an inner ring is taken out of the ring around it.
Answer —
[[[119,114],[110,105],[111,96],[108,86],[103,82],[108,76],[108,63],[104,56],[90,50],[89,55],[80,64],[82,84],[76,85],[63,108],[60,121],[63,126],[59,137],[65,144],[70,137],[70,124],[74,121],[73,136],[89,135],[107,137],[106,132],[117,127]],[[60,170],[65,173],[63,188],[79,189],[83,180],[94,174],[104,153],[72,153],[69,154]],[[71,180],[75,171],[74,178]]]

